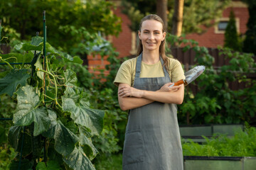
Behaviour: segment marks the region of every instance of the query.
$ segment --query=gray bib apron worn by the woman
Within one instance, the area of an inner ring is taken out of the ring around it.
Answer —
[[[160,57],[161,59],[161,57]],[[163,65],[161,59],[161,64]],[[139,78],[142,54],[137,58],[134,88],[156,91],[171,82],[164,77]],[[122,157],[123,170],[183,170],[176,104],[153,102],[129,111]]]

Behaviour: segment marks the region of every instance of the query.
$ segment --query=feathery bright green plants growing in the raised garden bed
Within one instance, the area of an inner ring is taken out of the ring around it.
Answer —
[[[256,157],[256,128],[247,128],[245,132],[238,130],[234,137],[215,134],[199,145],[193,141],[183,142],[184,156],[207,157]]]

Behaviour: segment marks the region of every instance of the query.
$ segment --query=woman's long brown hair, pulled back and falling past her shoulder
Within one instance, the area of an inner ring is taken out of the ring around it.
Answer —
[[[148,16],[145,16],[144,18],[142,18],[141,22],[139,23],[139,31],[142,31],[142,23],[146,20],[155,20],[155,21],[159,21],[162,24],[162,32],[166,32],[166,30],[164,29],[164,21],[157,16],[156,14],[149,14]],[[143,52],[143,47],[142,47],[142,40],[139,40],[139,47],[137,50],[137,55],[140,55]],[[162,59],[164,60],[164,67],[166,67],[167,70],[169,70],[169,60],[165,55],[165,39],[163,41],[161,41],[161,45],[159,47],[159,55],[162,57]]]

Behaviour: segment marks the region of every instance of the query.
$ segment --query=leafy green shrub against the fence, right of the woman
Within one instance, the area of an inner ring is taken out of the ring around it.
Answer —
[[[196,79],[198,92],[193,94],[191,89],[185,88],[183,104],[178,106],[180,123],[256,122],[255,80],[247,78],[247,74],[255,74],[256,64],[252,54],[220,47],[219,55],[225,57],[228,64],[213,69],[215,61],[206,47],[199,47],[194,40],[177,38],[174,35],[169,35],[166,40],[171,45],[185,45],[184,52],[192,48],[196,52],[196,65],[206,66],[206,71]],[[231,90],[228,83],[233,81],[245,83],[245,89]]]

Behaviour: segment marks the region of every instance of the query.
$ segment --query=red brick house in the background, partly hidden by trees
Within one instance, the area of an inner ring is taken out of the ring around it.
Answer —
[[[131,21],[129,21],[129,18],[124,13],[122,13],[121,0],[112,0],[112,2],[114,2],[117,6],[117,8],[113,10],[114,14],[122,18],[122,32],[119,33],[118,37],[108,36],[107,40],[112,42],[117,52],[119,52],[119,57],[136,55],[137,33],[134,33],[129,29],[129,24]],[[188,34],[186,35],[186,39],[196,40],[199,46],[204,47],[215,48],[218,47],[218,45],[222,46],[224,44],[225,27],[227,26],[230,10],[232,8],[235,13],[238,34],[240,36],[244,35],[247,30],[246,24],[249,18],[247,5],[242,3],[242,1],[233,0],[228,8],[225,8],[223,11],[222,18],[218,19],[218,25],[208,28],[206,32],[202,34]],[[108,64],[106,57],[105,59],[102,59],[100,56],[88,56],[87,59],[90,70],[97,68],[102,69],[105,67],[105,64]]]

